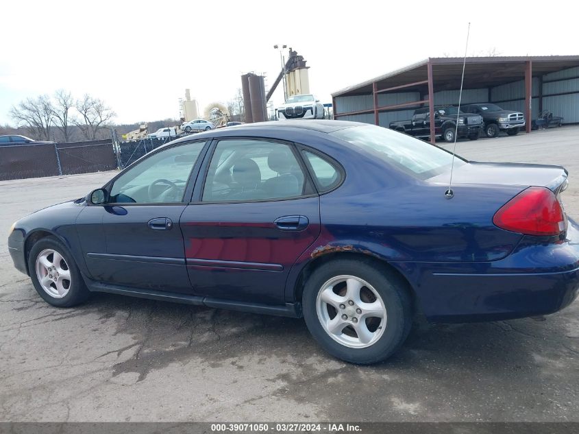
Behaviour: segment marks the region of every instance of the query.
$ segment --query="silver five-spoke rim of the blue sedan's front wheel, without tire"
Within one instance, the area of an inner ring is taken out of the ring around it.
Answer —
[[[40,287],[53,298],[63,298],[71,289],[71,269],[56,250],[45,249],[38,254],[36,277]]]

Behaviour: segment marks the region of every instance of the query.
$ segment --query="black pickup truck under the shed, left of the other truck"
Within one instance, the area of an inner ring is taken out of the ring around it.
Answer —
[[[458,111],[454,106],[434,107],[434,135],[447,142],[454,142],[458,114],[458,137],[476,140],[482,130],[482,116]],[[430,137],[430,112],[428,107],[417,108],[412,119],[390,123],[391,130],[405,132],[419,138]]]

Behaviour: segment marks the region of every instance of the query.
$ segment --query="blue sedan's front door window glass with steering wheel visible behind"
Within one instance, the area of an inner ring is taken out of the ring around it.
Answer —
[[[180,203],[189,175],[205,142],[164,149],[114,181],[110,203]]]

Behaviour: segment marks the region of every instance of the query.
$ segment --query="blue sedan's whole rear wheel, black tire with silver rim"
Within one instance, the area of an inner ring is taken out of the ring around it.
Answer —
[[[346,296],[350,290],[352,298]],[[349,300],[356,301],[350,305]],[[373,306],[372,311],[369,306]],[[390,357],[412,326],[406,282],[369,260],[338,259],[315,269],[304,287],[302,307],[308,330],[325,351],[361,365]],[[360,308],[368,314],[356,311]],[[373,312],[381,312],[382,317],[373,316]],[[343,315],[348,319],[343,320]],[[356,315],[367,319],[358,321]],[[328,328],[332,323],[338,324],[335,333]]]

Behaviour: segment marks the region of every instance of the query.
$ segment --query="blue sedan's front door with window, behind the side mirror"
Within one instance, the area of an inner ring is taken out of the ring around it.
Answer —
[[[113,180],[107,204],[83,210],[77,229],[93,279],[190,293],[179,220],[205,145],[185,143],[151,154]]]

